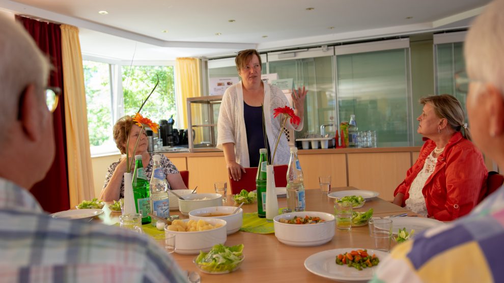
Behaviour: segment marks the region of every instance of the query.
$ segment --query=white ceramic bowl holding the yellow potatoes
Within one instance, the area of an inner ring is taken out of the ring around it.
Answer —
[[[190,219],[182,221],[187,222]],[[227,240],[226,220],[217,218],[206,218],[209,224],[222,224],[221,227],[206,231],[197,232],[176,232],[167,230],[164,226],[164,235],[175,234],[175,252],[180,254],[199,254],[200,250],[209,251],[216,244],[224,244]]]

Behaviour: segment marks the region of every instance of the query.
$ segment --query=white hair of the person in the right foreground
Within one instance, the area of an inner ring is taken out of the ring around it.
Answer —
[[[504,94],[504,0],[495,0],[478,16],[465,39],[470,78],[492,83]]]

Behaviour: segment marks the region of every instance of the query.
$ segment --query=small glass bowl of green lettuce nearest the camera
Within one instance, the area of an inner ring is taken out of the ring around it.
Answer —
[[[204,273],[229,273],[237,270],[245,259],[242,252],[243,244],[232,247],[218,244],[209,252],[200,251],[200,255],[193,262]]]

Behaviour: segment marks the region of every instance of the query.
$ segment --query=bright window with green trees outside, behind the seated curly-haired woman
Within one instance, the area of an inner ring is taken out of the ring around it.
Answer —
[[[138,111],[156,84],[156,74],[159,84],[142,108],[142,115],[156,123],[172,115],[177,121],[173,66],[130,66],[85,60],[83,69],[91,155],[119,151],[113,127],[125,114],[134,115]]]

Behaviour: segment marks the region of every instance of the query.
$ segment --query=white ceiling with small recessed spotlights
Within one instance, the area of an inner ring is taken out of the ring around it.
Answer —
[[[166,61],[231,55],[246,48],[265,51],[466,27],[489,2],[0,0],[0,9],[79,27],[86,55]],[[309,7],[315,9],[306,10]],[[98,14],[101,10],[108,14]]]

